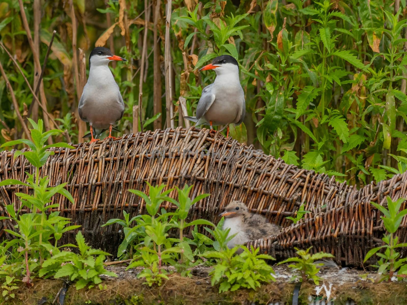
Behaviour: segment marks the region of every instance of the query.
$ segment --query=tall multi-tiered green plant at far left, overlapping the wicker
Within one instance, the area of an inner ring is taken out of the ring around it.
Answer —
[[[58,207],[57,204],[49,205],[51,197],[57,193],[65,196],[73,203],[73,198],[67,190],[64,189],[66,183],[48,187],[49,180],[47,177],[39,177],[39,168],[43,166],[48,156],[53,155],[54,152],[47,150],[51,147],[64,147],[72,148],[72,146],[65,143],[56,143],[44,146],[48,137],[61,133],[60,130],[43,131],[42,120],[38,120],[36,124],[33,120],[28,119],[33,126],[31,129],[31,137],[33,141],[28,139],[20,139],[3,144],[3,146],[12,146],[15,144],[26,144],[31,148],[31,151],[16,151],[14,156],[24,155],[26,159],[35,167],[35,174],[27,172],[26,182],[6,179],[0,182],[3,185],[24,185],[33,189],[33,195],[24,193],[16,193],[21,200],[21,206],[18,211],[15,211],[13,205],[7,205],[5,208],[9,217],[0,217],[1,220],[13,220],[17,225],[15,228],[18,231],[5,229],[8,233],[15,236],[15,239],[10,240],[5,244],[5,248],[18,247],[19,258],[24,261],[24,268],[26,277],[23,281],[27,284],[30,283],[30,275],[41,268],[44,259],[50,257],[50,248],[52,246],[51,240],[55,241],[56,248],[57,241],[61,238],[62,233],[77,229],[79,226],[66,226],[69,223],[68,218],[59,216],[59,212],[47,213],[48,209]],[[31,213],[21,214],[20,211],[26,207]],[[20,260],[21,261],[21,260]],[[20,262],[19,261],[19,262]],[[21,263],[22,263],[21,261]],[[18,263],[16,263],[18,264]]]

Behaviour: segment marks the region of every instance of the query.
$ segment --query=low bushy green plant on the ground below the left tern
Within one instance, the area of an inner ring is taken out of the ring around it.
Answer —
[[[109,270],[105,270],[103,261],[106,255],[110,255],[98,249],[92,249],[86,244],[81,231],[75,237],[78,244],[79,254],[69,251],[61,251],[44,261],[39,272],[40,277],[53,275],[56,279],[68,278],[75,282],[77,290],[88,286],[94,287],[101,283],[100,275],[117,275]],[[95,257],[96,256],[96,257]],[[61,266],[62,263],[63,266]]]

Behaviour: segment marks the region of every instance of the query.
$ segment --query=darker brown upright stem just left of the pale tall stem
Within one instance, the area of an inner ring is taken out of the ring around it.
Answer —
[[[154,74],[154,83],[153,83],[153,111],[154,115],[162,112],[162,100],[161,100],[161,67],[160,67],[160,53],[161,48],[158,44],[158,20],[160,18],[160,6],[161,0],[155,0],[154,5],[154,27],[153,27],[153,74]],[[154,129],[162,128],[162,115],[154,121],[153,126]]]

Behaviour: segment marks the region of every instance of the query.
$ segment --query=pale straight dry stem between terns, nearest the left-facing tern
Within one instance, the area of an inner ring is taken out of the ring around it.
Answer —
[[[165,64],[165,107],[167,128],[174,128],[174,109],[172,97],[172,65],[171,65],[171,44],[170,44],[170,25],[171,25],[171,7],[172,1],[167,1],[165,18],[165,41],[164,41],[164,64]]]

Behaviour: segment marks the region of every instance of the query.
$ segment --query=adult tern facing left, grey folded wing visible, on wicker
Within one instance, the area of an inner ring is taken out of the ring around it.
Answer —
[[[216,78],[213,84],[202,90],[196,116],[184,118],[195,122],[195,125],[225,125],[226,137],[229,136],[229,124],[239,125],[246,113],[245,94],[239,80],[239,64],[230,55],[222,55],[212,60],[199,71],[214,70]]]

